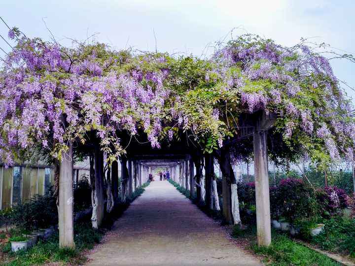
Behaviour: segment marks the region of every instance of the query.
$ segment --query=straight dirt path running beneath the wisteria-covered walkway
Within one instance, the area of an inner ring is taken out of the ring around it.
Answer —
[[[168,181],[154,181],[89,254],[88,265],[261,265]]]

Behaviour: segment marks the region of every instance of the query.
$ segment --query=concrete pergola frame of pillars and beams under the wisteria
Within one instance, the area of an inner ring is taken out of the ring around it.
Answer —
[[[238,198],[236,194],[236,180],[233,170],[231,170],[229,147],[238,145],[238,141],[243,138],[253,136],[254,145],[254,165],[255,165],[255,191],[256,191],[256,222],[257,222],[257,242],[258,245],[269,245],[271,243],[271,219],[270,219],[270,199],[269,199],[269,179],[267,163],[267,132],[273,127],[275,122],[274,114],[259,112],[255,114],[243,114],[240,118],[241,127],[237,138],[227,141],[226,144],[216,151],[218,162],[223,173],[223,216],[226,222],[232,224],[238,208]],[[59,177],[59,235],[61,246],[73,246],[73,207],[72,207],[72,145],[67,153],[63,153],[60,162]],[[104,174],[103,174],[103,153],[99,146],[95,146],[95,202],[93,212],[93,225],[99,227],[104,218]],[[163,145],[161,149],[152,149],[149,143],[141,141],[131,141],[127,148],[126,156],[120,158],[121,161],[121,190],[122,199],[125,194],[130,196],[133,191],[148,180],[151,167],[164,167],[170,170],[171,178],[179,181],[181,186],[190,191],[190,195],[201,199],[201,190],[195,182],[199,184],[202,175],[202,165],[205,167],[206,180],[206,204],[211,206],[211,182],[213,179],[213,157],[212,154],[202,154],[200,150],[189,145],[187,138],[180,141]],[[116,163],[112,164],[112,186],[113,193],[118,189],[118,173]],[[177,168],[178,167],[178,168]],[[178,174],[177,174],[178,170]],[[181,179],[182,177],[182,179]],[[116,191],[116,192],[115,192]],[[232,199],[233,198],[233,199]],[[204,199],[202,199],[204,200]],[[235,202],[237,200],[237,203]]]

